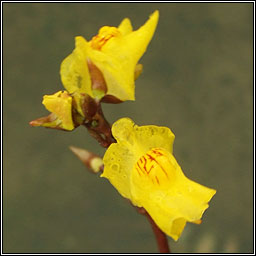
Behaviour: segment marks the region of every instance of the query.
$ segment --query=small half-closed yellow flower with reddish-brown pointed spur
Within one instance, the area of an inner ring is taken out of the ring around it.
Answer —
[[[44,95],[42,103],[52,113],[49,116],[31,121],[30,125],[68,131],[75,128],[72,119],[72,97],[66,91],[59,91],[53,95]]]

